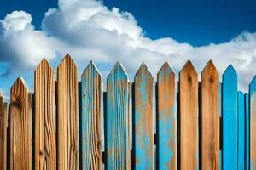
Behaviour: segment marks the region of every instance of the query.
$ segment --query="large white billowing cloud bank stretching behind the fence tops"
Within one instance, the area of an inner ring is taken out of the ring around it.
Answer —
[[[172,37],[152,40],[131,13],[109,9],[101,1],[59,0],[58,6],[44,14],[40,30],[23,11],[0,21],[0,60],[10,63],[9,72],[31,70],[44,56],[54,61],[68,53],[78,63],[113,65],[119,60],[131,73],[146,61],[154,74],[166,60],[179,71],[190,59],[201,71],[212,59],[220,72],[233,64],[241,88],[256,73],[256,33],[242,32],[230,42],[193,47]]]

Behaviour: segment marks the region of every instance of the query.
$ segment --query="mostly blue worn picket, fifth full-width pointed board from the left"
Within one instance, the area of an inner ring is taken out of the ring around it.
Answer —
[[[128,169],[130,160],[127,74],[118,62],[107,78],[107,169]]]

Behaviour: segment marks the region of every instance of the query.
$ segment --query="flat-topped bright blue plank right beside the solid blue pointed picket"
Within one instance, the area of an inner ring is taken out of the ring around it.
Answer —
[[[245,168],[245,102],[244,94],[238,92],[238,169]]]

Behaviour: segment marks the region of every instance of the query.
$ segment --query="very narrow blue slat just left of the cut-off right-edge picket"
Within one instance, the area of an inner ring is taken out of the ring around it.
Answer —
[[[249,93],[245,94],[245,112],[246,112],[246,153],[245,153],[245,164],[246,170],[250,169],[250,98]]]

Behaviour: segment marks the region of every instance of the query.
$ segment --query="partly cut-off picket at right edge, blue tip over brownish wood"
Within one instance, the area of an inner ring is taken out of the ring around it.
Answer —
[[[256,76],[249,87],[250,93],[250,169],[256,169]]]

